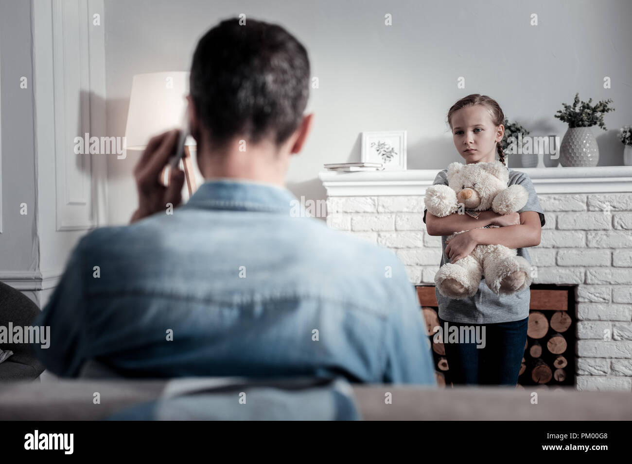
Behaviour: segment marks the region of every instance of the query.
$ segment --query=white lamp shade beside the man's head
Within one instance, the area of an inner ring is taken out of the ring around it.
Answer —
[[[144,150],[153,136],[182,124],[189,92],[188,71],[135,74],[125,126],[127,150]],[[195,145],[190,135],[185,145]]]

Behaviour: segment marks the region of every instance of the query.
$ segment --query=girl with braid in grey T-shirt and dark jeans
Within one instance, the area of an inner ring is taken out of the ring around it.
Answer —
[[[499,161],[506,166],[501,146],[504,114],[493,98],[478,93],[461,98],[449,109],[447,122],[454,146],[466,164],[494,162],[498,155]],[[525,207],[516,213],[498,215],[488,210],[481,211],[478,218],[459,213],[439,218],[424,211],[423,222],[428,234],[441,235],[440,266],[465,258],[478,244],[501,244],[517,249],[518,256],[531,263],[526,248],[540,244],[544,212],[529,176],[507,170],[507,186],[520,184],[529,194]],[[434,184],[447,185],[446,174],[447,169],[439,172]],[[491,225],[497,227],[487,227]],[[467,232],[446,242],[448,235],[461,230]],[[533,266],[531,271],[535,277]],[[516,285],[519,288],[525,282],[524,274],[524,271],[516,271],[507,278],[522,279]],[[515,386],[525,350],[530,289],[526,287],[515,294],[496,295],[487,287],[483,276],[473,297],[453,299],[441,295],[438,290],[435,295],[452,383]],[[459,334],[476,333],[477,336],[454,340],[454,336],[449,338],[451,326],[456,326]],[[463,330],[463,326],[468,330]]]

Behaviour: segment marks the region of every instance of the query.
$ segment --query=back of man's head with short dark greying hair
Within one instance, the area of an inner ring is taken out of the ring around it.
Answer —
[[[303,119],[309,75],[305,47],[283,27],[233,18],[210,29],[193,54],[190,95],[212,147],[236,135],[283,144]]]

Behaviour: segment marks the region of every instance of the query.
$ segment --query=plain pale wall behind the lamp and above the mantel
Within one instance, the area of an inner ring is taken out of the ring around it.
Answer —
[[[593,131],[599,165],[623,164],[616,129],[632,122],[629,1],[106,0],[105,11],[111,135],[125,132],[133,74],[188,69],[197,39],[219,20],[245,13],[294,33],[320,80],[310,101],[313,133],[288,173],[297,196],[324,199],[322,164],[360,160],[362,131],[408,130],[409,169],[461,161],[446,116],[470,93],[494,97],[532,134],[560,136],[566,125],[553,115],[562,102],[576,92],[595,102],[612,98],[607,133]],[[458,76],[465,89],[456,88]],[[604,76],[612,79],[609,90]],[[109,160],[112,223],[127,222],[135,209],[136,160]],[[518,167],[513,161],[509,166]]]

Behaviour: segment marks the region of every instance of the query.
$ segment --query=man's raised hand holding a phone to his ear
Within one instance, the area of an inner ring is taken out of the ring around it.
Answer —
[[[177,167],[171,169],[168,187],[165,187],[160,179],[162,170],[169,161],[169,156],[176,151],[178,133],[178,129],[174,129],[152,137],[140,160],[138,160],[138,164],[134,168],[138,190],[138,209],[131,217],[130,223],[151,216],[158,211],[166,210],[167,203],[171,203],[175,208],[182,202],[185,173]]]

